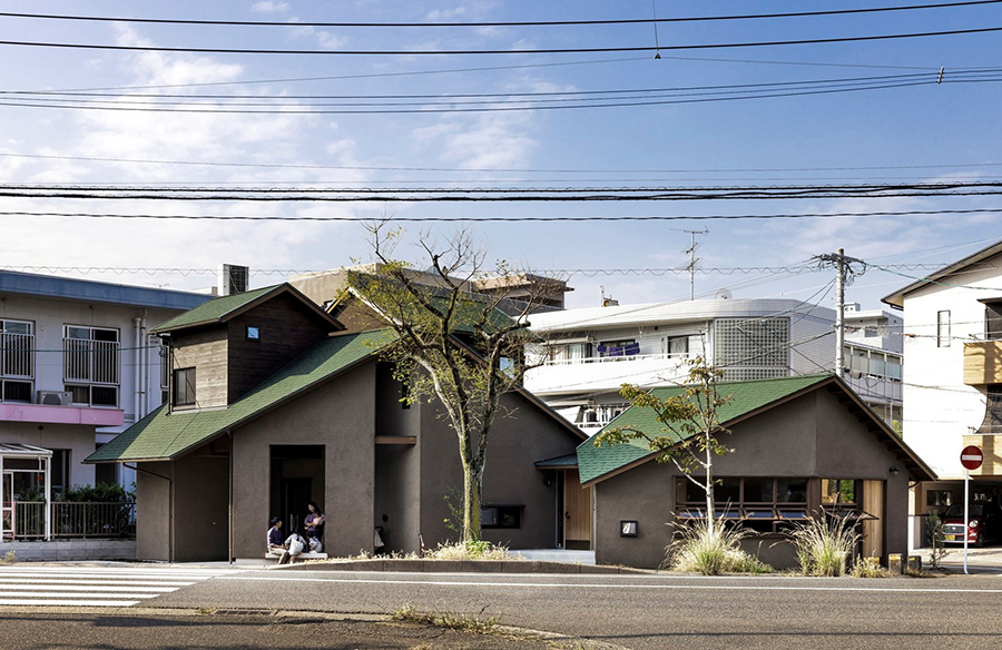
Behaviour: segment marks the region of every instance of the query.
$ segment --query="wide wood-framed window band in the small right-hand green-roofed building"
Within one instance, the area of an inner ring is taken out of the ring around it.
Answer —
[[[705,516],[706,494],[684,476],[676,479],[676,502],[679,519]],[[807,518],[807,479],[718,479],[714,511],[746,530],[780,532]]]

